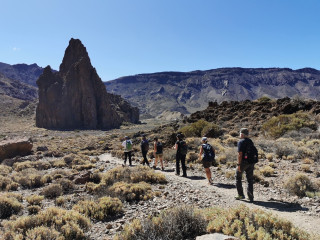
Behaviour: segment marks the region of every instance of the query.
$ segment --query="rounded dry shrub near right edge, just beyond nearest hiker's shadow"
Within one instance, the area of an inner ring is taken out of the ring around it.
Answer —
[[[314,184],[308,176],[301,173],[288,179],[285,188],[290,194],[297,195],[301,198],[306,196],[306,192],[313,192],[315,190]]]

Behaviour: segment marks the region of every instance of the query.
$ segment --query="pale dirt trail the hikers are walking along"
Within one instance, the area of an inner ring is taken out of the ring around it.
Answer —
[[[101,155],[100,160],[109,161],[111,164],[115,165],[121,165],[123,163],[123,160],[112,157],[110,154]],[[303,208],[301,209],[300,206],[294,206],[293,204],[275,200],[268,200],[265,199],[263,195],[258,193],[255,193],[254,203],[249,203],[248,201],[237,201],[234,199],[234,196],[236,195],[236,189],[233,186],[219,182],[219,179],[217,178],[214,178],[215,183],[213,185],[208,185],[206,179],[197,177],[196,175],[199,174],[194,173],[192,170],[188,172],[188,178],[175,176],[174,171],[164,171],[162,173],[170,177],[170,179],[173,181],[188,183],[189,186],[194,187],[194,190],[201,188],[206,189],[208,194],[217,193],[223,199],[224,204],[222,207],[234,207],[239,204],[245,204],[249,208],[260,208],[264,211],[272,212],[272,214],[277,215],[280,218],[291,221],[296,227],[299,227],[308,233],[319,234],[320,232],[320,218],[308,215],[308,212],[304,211]],[[203,176],[204,173],[201,177]],[[243,184],[244,188],[245,184],[246,183]]]

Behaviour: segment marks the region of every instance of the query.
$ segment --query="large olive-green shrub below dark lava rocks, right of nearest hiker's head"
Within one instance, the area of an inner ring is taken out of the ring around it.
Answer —
[[[279,138],[288,131],[299,130],[303,127],[317,129],[316,123],[310,119],[307,113],[298,112],[272,117],[262,125],[261,129],[266,135]]]

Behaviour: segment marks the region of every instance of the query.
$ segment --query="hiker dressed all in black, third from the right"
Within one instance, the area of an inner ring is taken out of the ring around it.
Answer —
[[[181,161],[181,167],[182,167],[182,176],[187,177],[187,167],[186,167],[186,155],[188,151],[188,147],[186,142],[183,140],[184,136],[183,134],[177,134],[177,141],[174,149],[177,150],[176,153],[176,175],[180,175],[180,161]]]

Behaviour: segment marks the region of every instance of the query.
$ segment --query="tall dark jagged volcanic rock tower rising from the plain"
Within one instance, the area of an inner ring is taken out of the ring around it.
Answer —
[[[137,123],[139,110],[108,94],[80,40],[71,39],[59,72],[47,66],[37,80],[36,125],[51,129],[111,129]]]

